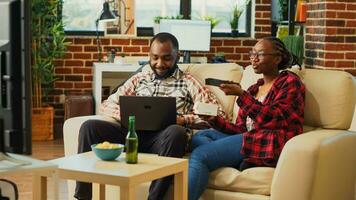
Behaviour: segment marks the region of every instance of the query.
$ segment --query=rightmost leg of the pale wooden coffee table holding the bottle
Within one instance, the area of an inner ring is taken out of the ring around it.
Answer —
[[[188,170],[185,169],[174,175],[174,200],[188,198]]]

